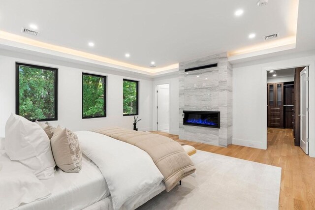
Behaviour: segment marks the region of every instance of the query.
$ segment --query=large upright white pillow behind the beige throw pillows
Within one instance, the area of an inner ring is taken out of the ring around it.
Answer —
[[[45,131],[36,123],[11,114],[5,124],[4,150],[11,160],[32,169],[40,180],[54,178],[55,161]]]

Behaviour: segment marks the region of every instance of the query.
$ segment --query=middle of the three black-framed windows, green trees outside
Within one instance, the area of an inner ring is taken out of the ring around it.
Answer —
[[[82,118],[106,117],[106,76],[82,73]]]

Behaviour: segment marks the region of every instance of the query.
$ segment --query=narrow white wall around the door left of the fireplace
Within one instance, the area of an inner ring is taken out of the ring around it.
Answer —
[[[170,89],[170,124],[169,132],[171,134],[178,134],[179,124],[178,124],[178,100],[179,100],[179,83],[178,83],[178,72],[176,74],[171,74],[168,76],[157,77],[153,80],[152,95],[153,95],[153,114],[152,123],[153,130],[157,130],[157,101],[156,101],[156,87],[161,84],[169,84]]]

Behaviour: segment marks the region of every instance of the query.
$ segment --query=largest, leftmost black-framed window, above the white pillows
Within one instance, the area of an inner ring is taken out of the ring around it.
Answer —
[[[58,120],[58,69],[15,63],[15,112],[28,120]]]

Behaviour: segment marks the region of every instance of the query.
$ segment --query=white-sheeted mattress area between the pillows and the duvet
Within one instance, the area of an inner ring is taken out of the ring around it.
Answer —
[[[54,179],[41,181],[52,195],[16,210],[82,210],[109,196],[103,175],[85,155],[79,173],[65,173],[58,168]]]

